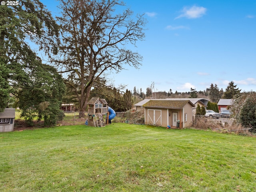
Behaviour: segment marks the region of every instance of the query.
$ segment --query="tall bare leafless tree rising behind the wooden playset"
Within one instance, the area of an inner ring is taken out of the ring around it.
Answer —
[[[138,68],[142,56],[126,48],[144,39],[146,20],[134,16],[119,0],[60,0],[62,46],[60,72],[76,93],[79,111],[86,110],[90,90],[111,71]]]

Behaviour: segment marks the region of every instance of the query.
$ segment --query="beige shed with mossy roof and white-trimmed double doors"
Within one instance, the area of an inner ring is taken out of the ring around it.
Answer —
[[[145,124],[178,128],[192,126],[195,105],[190,100],[150,100],[143,107]]]

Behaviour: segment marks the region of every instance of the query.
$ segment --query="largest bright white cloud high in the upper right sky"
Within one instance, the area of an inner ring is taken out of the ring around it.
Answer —
[[[184,7],[183,10],[181,11],[182,14],[180,14],[175,19],[182,18],[182,17],[185,17],[188,19],[199,18],[199,17],[202,17],[204,14],[206,14],[206,10],[207,10],[206,8],[198,7],[198,6]]]

